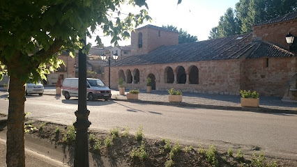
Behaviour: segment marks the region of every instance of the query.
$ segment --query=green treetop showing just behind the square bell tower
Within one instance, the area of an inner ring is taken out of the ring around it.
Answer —
[[[176,26],[163,25],[162,28],[178,32],[178,44],[198,41],[197,36],[190,35],[188,34],[188,31],[183,31],[183,29],[179,29],[178,31]]]

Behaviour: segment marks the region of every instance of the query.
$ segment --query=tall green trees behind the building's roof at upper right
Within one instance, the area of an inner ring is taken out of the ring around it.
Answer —
[[[254,24],[296,10],[296,0],[240,0],[235,5],[235,11],[228,8],[224,16],[220,17],[218,26],[211,29],[208,38],[250,33]],[[232,16],[234,19],[231,19]]]

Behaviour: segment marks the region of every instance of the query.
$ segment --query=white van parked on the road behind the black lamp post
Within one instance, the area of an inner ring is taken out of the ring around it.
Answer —
[[[62,95],[66,100],[70,97],[78,97],[78,78],[66,78],[63,81]],[[86,97],[88,100],[109,100],[111,90],[100,79],[86,79]]]

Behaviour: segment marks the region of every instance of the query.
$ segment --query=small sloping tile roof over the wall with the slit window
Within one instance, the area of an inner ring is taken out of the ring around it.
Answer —
[[[271,58],[282,58],[282,57],[292,57],[295,56],[294,53],[282,49],[277,45],[273,45],[269,42],[259,42],[257,43],[256,49],[247,58],[262,58],[262,57],[271,57]]]

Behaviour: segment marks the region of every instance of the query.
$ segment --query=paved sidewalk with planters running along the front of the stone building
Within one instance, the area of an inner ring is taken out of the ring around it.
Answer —
[[[127,90],[126,90],[127,91]],[[55,88],[45,88],[45,95],[55,95]],[[118,90],[112,90],[112,100],[127,100],[126,94],[119,95]],[[242,107],[241,96],[238,95],[214,95],[206,93],[183,93],[183,102],[169,102],[166,91],[152,90],[146,93],[140,90],[139,100],[129,100],[130,102],[141,102],[148,104],[192,106],[203,109],[225,109],[236,111],[258,111],[268,113],[293,113],[297,114],[296,102],[282,102],[282,97],[260,97],[260,107]]]

